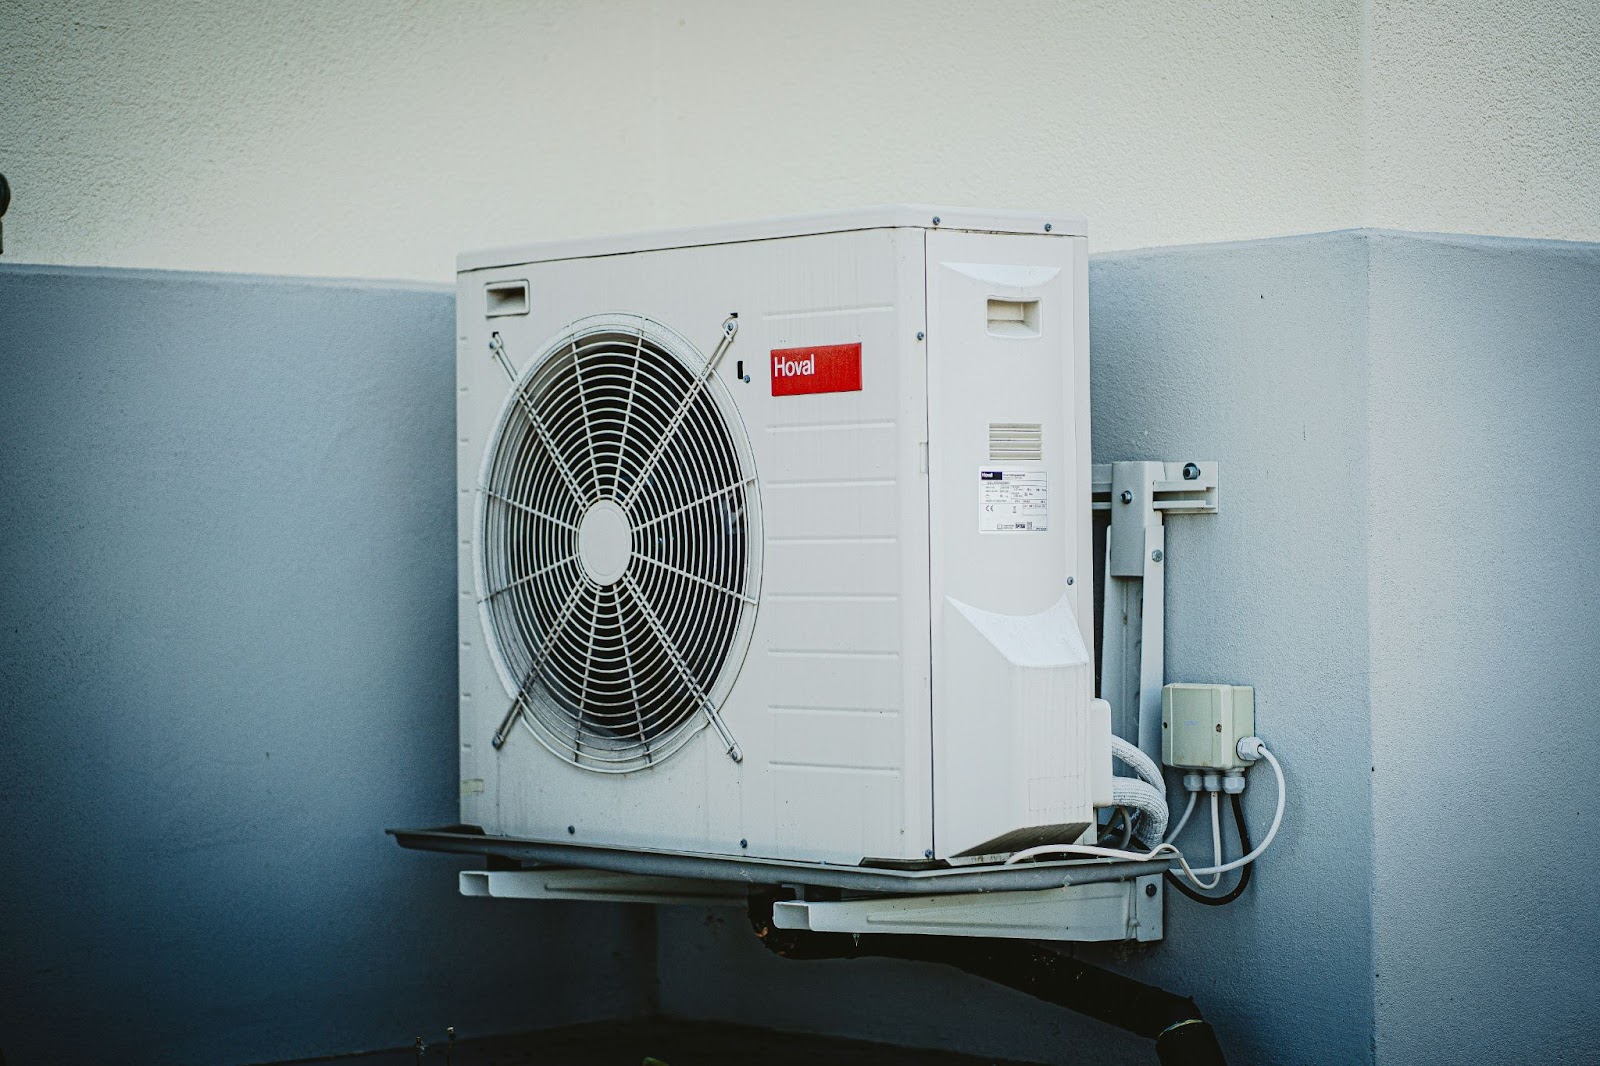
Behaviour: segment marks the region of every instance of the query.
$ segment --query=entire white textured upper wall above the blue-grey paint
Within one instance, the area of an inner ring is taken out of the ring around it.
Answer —
[[[6,259],[443,280],[883,200],[1600,238],[1600,3],[0,0]]]

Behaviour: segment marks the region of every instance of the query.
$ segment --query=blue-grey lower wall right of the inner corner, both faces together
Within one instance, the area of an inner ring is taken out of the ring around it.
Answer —
[[[1222,464],[1221,512],[1170,522],[1168,679],[1256,685],[1290,797],[1243,900],[1083,954],[1194,994],[1230,1061],[1594,1061],[1597,262],[1374,232],[1091,262],[1094,458]],[[667,1012],[1150,1061],[931,967],[659,935]]]

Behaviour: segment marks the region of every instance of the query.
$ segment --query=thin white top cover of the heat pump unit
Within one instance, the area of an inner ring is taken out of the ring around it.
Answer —
[[[485,251],[466,251],[456,258],[456,271],[482,271],[486,267],[518,266],[523,262],[552,262],[555,259],[589,259],[594,256],[621,256],[630,251],[661,251],[664,248],[699,248],[704,245],[731,245],[746,240],[779,240],[782,237],[808,237],[811,234],[843,234],[856,229],[960,229],[986,234],[1050,234],[1051,237],[1086,237],[1088,222],[1082,214],[1069,211],[982,211],[976,208],[942,208],[915,203],[856,208],[853,211],[829,211],[824,214],[794,214],[749,222],[723,222],[718,226],[694,226],[690,229],[658,229],[642,234],[618,234],[613,237],[586,237],[582,240],[549,240],[533,245],[510,245]]]

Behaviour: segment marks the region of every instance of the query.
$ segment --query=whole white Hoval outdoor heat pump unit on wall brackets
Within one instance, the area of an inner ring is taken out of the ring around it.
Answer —
[[[890,868],[1096,824],[1082,218],[485,251],[458,309],[464,823]]]

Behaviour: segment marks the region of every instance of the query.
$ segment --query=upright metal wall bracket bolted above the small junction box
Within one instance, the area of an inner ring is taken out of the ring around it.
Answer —
[[[1166,514],[1216,514],[1216,463],[1096,463],[1091,507],[1110,514],[1101,698],[1112,730],[1162,762]]]

